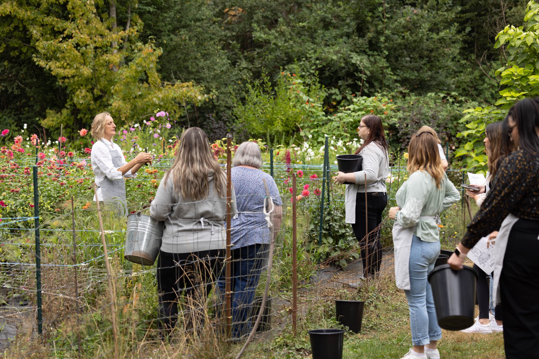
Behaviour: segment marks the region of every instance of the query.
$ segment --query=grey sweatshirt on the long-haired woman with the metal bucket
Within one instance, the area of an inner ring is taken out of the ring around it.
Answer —
[[[237,210],[233,187],[231,210],[234,216]],[[225,248],[226,197],[215,193],[213,173],[209,174],[208,196],[200,201],[183,199],[175,191],[171,175],[165,175],[151,201],[150,215],[165,222],[161,243],[164,252],[192,253]]]

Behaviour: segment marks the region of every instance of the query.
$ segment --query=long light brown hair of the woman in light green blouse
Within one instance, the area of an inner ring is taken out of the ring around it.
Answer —
[[[438,142],[430,131],[418,131],[408,145],[408,165],[410,175],[416,171],[429,173],[438,189],[444,178],[444,167],[438,153]]]

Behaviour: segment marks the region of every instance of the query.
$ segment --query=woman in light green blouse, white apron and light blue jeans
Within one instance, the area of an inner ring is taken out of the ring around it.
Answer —
[[[410,308],[412,345],[402,359],[439,359],[441,339],[427,276],[440,255],[438,214],[460,199],[447,179],[430,131],[418,131],[408,146],[410,178],[397,191],[398,207],[389,210],[395,245],[395,278]]]

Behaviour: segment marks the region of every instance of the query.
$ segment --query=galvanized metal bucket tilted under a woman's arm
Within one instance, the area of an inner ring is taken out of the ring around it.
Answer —
[[[123,257],[136,264],[153,265],[161,247],[163,223],[145,214],[128,215]]]

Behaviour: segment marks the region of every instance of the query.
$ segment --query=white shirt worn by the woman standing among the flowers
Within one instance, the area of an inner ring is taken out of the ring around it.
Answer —
[[[105,138],[101,138],[99,141],[94,143],[94,145],[92,146],[92,154],[90,155],[90,157],[92,161],[92,170],[95,174],[95,185],[98,186],[96,194],[99,201],[103,200],[103,196],[101,195],[101,188],[99,187],[101,186],[105,178],[108,178],[111,181],[118,181],[121,180],[123,177],[136,177],[136,173],[132,174],[131,170],[127,171],[127,173],[122,176],[122,172],[118,171],[118,168],[120,167],[114,167],[114,165],[112,164],[112,156],[110,156],[109,150],[116,150],[122,154],[122,166],[127,163],[125,157],[123,157],[122,149],[120,149],[120,146],[118,146],[114,142],[108,141]]]

